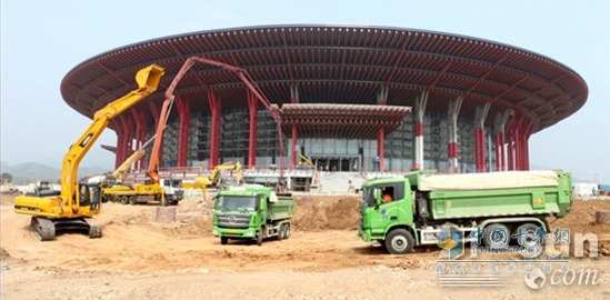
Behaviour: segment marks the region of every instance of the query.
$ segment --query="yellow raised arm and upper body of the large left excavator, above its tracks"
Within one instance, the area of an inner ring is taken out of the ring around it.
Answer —
[[[82,158],[91,146],[98,140],[110,121],[129,108],[138,104],[147,96],[153,93],[163,76],[163,68],[151,64],[138,71],[136,82],[138,89],[129,92],[122,98],[114,100],[104,108],[98,110],[93,116],[93,122],[70,146],[63,158],[61,168],[61,193],[58,197],[18,197],[14,201],[17,213],[44,217],[50,219],[70,219],[98,214],[99,206],[81,206],[80,191],[77,188],[77,172]],[[32,220],[32,224],[33,224]],[[40,232],[39,232],[40,233]],[[54,236],[54,229],[53,229]],[[41,234],[42,237],[42,234]]]

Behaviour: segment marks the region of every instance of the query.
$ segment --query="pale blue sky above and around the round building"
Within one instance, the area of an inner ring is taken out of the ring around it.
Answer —
[[[61,98],[82,61],[130,43],[266,24],[353,24],[432,30],[524,48],[578,72],[583,108],[530,139],[532,169],[610,184],[610,1],[150,1],[4,0],[1,11],[0,159],[60,168],[91,120]],[[81,166],[112,169],[102,133]]]

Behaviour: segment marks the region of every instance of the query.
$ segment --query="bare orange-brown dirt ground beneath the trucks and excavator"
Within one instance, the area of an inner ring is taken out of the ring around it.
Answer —
[[[154,222],[156,206],[106,203],[96,217],[103,238],[67,233],[50,242],[38,240],[30,218],[12,211],[12,200],[1,199],[2,299],[610,299],[610,226],[594,223],[594,212],[610,210],[610,199],[574,201],[566,219],[552,222],[598,236],[599,258],[567,263],[598,270],[597,284],[547,283],[541,290],[523,283],[523,264],[506,287],[442,286],[438,247],[391,256],[356,236],[356,197],[299,197],[291,238],[261,247],[221,246],[211,236],[210,204],[200,198],[182,201],[171,223]]]

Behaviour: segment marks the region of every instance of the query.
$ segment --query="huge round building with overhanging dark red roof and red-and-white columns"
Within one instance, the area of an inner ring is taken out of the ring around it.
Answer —
[[[118,166],[154,133],[164,90],[194,56],[243,68],[279,107],[288,169],[299,169],[302,156],[329,171],[527,170],[531,134],[588,97],[577,72],[526,49],[351,26],[262,26],[138,42],[78,64],[61,93],[92,118],[136,88],[140,68],[166,68],[159,91],[110,124]],[[274,120],[234,73],[196,64],[176,94],[164,167],[279,164]]]

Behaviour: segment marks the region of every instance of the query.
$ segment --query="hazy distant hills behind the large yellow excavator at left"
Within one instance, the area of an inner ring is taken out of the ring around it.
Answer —
[[[0,162],[1,172],[7,172],[12,176],[12,181],[16,184],[26,184],[39,180],[57,182],[61,176],[61,170],[51,168],[39,162],[24,162],[16,166],[10,166],[6,161]],[[79,168],[78,177],[90,177],[108,172],[109,170],[101,168],[81,167]]]

